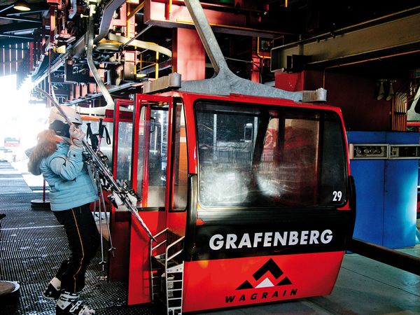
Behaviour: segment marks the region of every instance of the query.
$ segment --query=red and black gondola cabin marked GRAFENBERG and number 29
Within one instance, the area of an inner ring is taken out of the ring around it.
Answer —
[[[339,109],[188,92],[134,103],[130,179],[156,241],[131,220],[129,304],[180,314],[331,292],[355,216]]]

